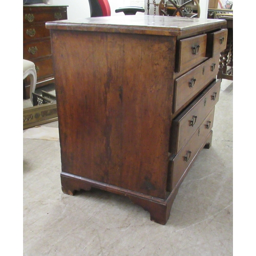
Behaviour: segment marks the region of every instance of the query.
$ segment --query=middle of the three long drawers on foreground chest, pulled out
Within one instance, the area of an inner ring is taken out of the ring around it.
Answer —
[[[173,120],[170,135],[170,153],[177,154],[181,150],[182,146],[191,138],[205,117],[214,108],[219,100],[220,85],[220,79],[212,82],[187,109]]]

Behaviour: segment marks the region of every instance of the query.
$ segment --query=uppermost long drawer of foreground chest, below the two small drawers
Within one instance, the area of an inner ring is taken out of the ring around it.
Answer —
[[[216,78],[218,66],[219,56],[216,56],[175,80],[174,113]]]

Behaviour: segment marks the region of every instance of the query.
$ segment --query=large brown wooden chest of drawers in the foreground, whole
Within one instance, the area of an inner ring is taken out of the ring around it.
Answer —
[[[167,222],[188,169],[211,144],[225,26],[147,15],[47,23],[63,193],[104,189]]]

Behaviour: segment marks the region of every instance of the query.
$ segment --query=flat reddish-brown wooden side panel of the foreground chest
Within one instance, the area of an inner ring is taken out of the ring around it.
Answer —
[[[170,38],[52,31],[62,172],[165,198]]]

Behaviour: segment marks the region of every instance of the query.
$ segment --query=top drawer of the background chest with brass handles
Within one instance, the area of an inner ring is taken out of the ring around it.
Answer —
[[[31,12],[23,13],[23,23],[31,24],[34,22],[49,22],[53,20],[67,19],[67,12]]]

